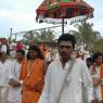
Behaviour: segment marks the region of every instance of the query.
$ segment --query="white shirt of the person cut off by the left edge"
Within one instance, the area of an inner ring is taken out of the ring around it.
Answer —
[[[0,87],[9,86],[9,70],[12,67],[12,62],[11,61],[4,61],[2,63],[0,61]]]

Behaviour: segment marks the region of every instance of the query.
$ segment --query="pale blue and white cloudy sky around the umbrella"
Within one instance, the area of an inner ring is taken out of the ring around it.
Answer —
[[[51,24],[36,23],[36,9],[43,0],[0,0],[0,37],[9,37],[10,28],[13,33],[39,29]],[[94,8],[94,17],[89,20],[93,23],[93,29],[103,35],[103,0],[85,0]],[[72,25],[67,27],[73,30]]]

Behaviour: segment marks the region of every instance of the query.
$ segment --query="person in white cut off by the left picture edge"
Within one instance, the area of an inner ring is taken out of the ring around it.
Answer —
[[[0,51],[0,103],[7,103],[9,93],[9,70],[12,67],[11,61],[5,59],[5,53]]]

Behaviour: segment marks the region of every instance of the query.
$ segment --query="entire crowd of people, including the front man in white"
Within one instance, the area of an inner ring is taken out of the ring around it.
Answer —
[[[103,54],[82,57],[76,39],[57,47],[0,39],[0,103],[103,103]]]

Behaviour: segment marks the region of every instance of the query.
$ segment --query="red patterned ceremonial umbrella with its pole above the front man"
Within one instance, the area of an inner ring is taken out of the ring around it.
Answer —
[[[39,22],[44,18],[62,18],[62,34],[64,34],[64,18],[76,16],[93,17],[93,8],[82,0],[44,0],[36,10]]]

